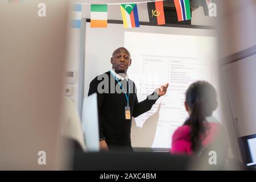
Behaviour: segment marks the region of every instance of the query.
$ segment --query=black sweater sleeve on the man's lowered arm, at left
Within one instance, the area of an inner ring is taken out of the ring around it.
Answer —
[[[98,80],[97,77],[94,78],[91,82],[90,82],[90,88],[89,88],[89,92],[88,92],[88,96],[90,96],[93,93],[97,93],[97,104],[98,104],[98,127],[99,127],[99,133],[100,133],[100,138],[105,138],[104,137],[104,131],[102,128],[102,121],[100,118],[100,112],[101,112],[101,106],[103,104],[104,101],[104,97],[105,97],[105,93],[98,93]]]

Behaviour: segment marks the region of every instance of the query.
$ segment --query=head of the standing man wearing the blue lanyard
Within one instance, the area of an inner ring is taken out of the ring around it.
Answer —
[[[113,52],[113,57],[111,58],[111,63],[113,64],[113,69],[117,73],[126,73],[127,69],[131,65],[130,53],[125,48],[118,48]]]

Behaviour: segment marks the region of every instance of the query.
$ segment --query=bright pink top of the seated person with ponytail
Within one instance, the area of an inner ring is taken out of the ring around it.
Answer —
[[[220,129],[220,124],[218,123],[208,123],[208,125],[210,129],[207,131],[207,136],[203,140],[203,146],[211,143]],[[189,125],[183,125],[177,128],[174,135],[172,135],[171,154],[193,154],[191,149],[190,130],[191,127]]]

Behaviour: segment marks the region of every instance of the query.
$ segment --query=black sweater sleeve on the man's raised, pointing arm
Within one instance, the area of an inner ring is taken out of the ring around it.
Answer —
[[[133,117],[138,117],[139,115],[146,113],[151,109],[151,107],[155,104],[156,100],[158,100],[159,95],[156,92],[153,92],[150,96],[144,101],[138,102],[137,94],[135,95],[134,101],[134,110]]]

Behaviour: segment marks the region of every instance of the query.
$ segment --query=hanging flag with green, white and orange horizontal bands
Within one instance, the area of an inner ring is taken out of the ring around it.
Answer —
[[[90,5],[90,27],[108,27],[108,5]]]

